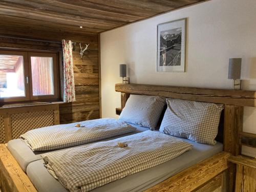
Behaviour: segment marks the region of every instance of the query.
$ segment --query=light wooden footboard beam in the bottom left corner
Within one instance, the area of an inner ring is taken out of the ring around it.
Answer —
[[[36,191],[5,144],[0,144],[0,186],[2,191]]]

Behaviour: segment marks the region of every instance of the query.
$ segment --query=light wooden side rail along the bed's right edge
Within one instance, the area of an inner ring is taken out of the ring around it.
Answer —
[[[193,191],[226,170],[228,157],[230,154],[226,152],[214,155],[145,190],[145,192]]]

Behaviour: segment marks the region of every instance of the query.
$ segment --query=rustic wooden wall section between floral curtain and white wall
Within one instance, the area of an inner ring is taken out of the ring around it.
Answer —
[[[92,42],[92,46],[91,46]],[[99,49],[98,35],[83,44],[90,44],[83,58],[79,55],[79,42],[73,51],[76,101],[60,104],[60,123],[71,123],[100,117]]]

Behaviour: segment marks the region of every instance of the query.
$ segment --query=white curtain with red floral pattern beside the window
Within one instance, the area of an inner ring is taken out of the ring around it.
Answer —
[[[65,102],[72,102],[76,100],[75,96],[75,82],[73,70],[73,55],[72,55],[72,41],[62,40],[63,47],[63,100]]]

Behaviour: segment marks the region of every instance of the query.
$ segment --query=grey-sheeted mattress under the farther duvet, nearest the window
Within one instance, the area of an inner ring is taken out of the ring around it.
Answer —
[[[135,132],[120,135],[120,136],[117,136],[117,137],[112,137],[112,138],[109,138],[109,139],[104,139],[104,140],[101,140],[101,141],[108,141],[108,140],[111,140],[111,139],[116,139],[116,138],[119,138],[119,137],[132,135],[132,134],[136,134],[136,133],[140,133],[140,132],[149,130],[146,127],[141,127],[141,126],[137,126],[137,125],[134,125],[134,124],[131,124],[131,125],[136,127]],[[87,143],[87,144],[90,144],[90,143]],[[84,145],[87,145],[87,144],[84,144]],[[77,146],[73,146],[73,147],[77,147]],[[26,144],[26,142],[24,142],[22,139],[10,140],[7,143],[7,148],[11,152],[13,157],[16,159],[19,166],[23,169],[24,172],[26,172],[26,169],[27,169],[27,166],[28,166],[29,163],[31,163],[33,161],[36,161],[36,160],[39,160],[39,159],[42,159],[41,154],[50,152],[50,151],[33,152],[31,150],[31,148]],[[65,150],[65,148],[62,148],[61,150]]]

